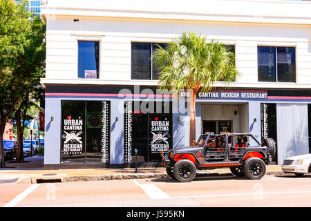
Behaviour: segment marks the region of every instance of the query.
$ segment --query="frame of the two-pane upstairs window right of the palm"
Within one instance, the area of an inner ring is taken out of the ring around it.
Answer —
[[[276,68],[275,68],[275,73],[276,73],[276,77],[275,77],[275,79],[276,79],[276,81],[261,81],[260,79],[259,79],[259,76],[258,76],[258,47],[274,47],[275,48],[275,66],[276,66]],[[295,68],[294,68],[294,71],[295,71],[295,73],[294,73],[294,75],[293,75],[293,77],[294,77],[294,81],[290,81],[290,82],[282,82],[282,81],[278,81],[278,77],[279,77],[279,73],[278,73],[278,50],[277,50],[277,48],[294,48],[294,60],[295,60],[295,63],[294,63],[294,66],[295,66]],[[286,45],[286,46],[284,46],[284,45],[269,45],[269,44],[265,44],[265,45],[261,45],[261,44],[258,44],[257,45],[257,81],[259,82],[259,83],[281,83],[281,84],[292,84],[292,83],[297,83],[297,47],[296,47],[296,45]]]

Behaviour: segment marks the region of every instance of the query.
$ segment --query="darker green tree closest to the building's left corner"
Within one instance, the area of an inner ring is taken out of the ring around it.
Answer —
[[[30,23],[30,31],[26,33],[27,44],[24,45],[24,53],[16,57],[19,64],[15,68],[16,75],[26,77],[19,105],[15,108],[17,122],[17,162],[23,162],[23,131],[25,121],[39,119],[39,100],[44,97],[44,88],[40,84],[40,78],[44,77],[46,59],[45,44],[46,26],[40,17],[34,17]]]

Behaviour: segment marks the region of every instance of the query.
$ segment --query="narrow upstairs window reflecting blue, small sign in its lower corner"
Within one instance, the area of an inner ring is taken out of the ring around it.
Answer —
[[[100,42],[78,41],[78,77],[99,78]]]

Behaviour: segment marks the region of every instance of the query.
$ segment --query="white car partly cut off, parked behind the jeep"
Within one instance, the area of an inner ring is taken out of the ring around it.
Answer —
[[[284,173],[294,173],[297,176],[311,173],[311,154],[288,157],[281,167]]]

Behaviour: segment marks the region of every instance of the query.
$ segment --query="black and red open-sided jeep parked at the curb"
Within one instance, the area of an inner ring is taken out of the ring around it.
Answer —
[[[200,135],[194,146],[173,148],[161,156],[167,174],[180,182],[194,180],[197,170],[225,167],[238,177],[256,180],[265,175],[265,164],[275,152],[271,138],[261,145],[251,133],[226,133]]]

